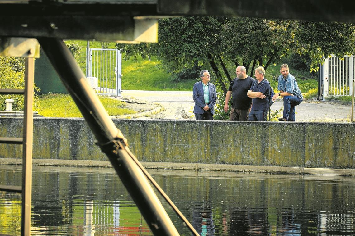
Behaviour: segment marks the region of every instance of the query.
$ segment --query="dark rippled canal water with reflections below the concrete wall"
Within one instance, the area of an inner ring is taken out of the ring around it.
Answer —
[[[355,235],[354,177],[148,172],[200,235]],[[32,183],[32,235],[152,235],[112,168],[34,166]],[[0,165],[0,184],[21,166]],[[20,228],[21,195],[0,192],[0,235]]]

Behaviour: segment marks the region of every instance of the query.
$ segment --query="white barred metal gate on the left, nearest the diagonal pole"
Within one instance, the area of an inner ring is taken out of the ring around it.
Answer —
[[[121,96],[121,52],[103,48],[90,48],[89,51],[88,74],[97,78],[97,93]]]

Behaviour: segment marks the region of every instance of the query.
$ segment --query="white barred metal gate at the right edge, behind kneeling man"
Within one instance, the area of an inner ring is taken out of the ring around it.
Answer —
[[[354,80],[353,55],[344,56],[340,59],[334,55],[327,58],[322,67],[323,69],[323,94],[324,96],[351,96]]]

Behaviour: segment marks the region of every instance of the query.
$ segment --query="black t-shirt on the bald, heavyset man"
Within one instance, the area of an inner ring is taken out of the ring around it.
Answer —
[[[232,107],[235,109],[249,109],[252,99],[247,92],[255,79],[248,76],[244,80],[235,78],[229,85],[228,90],[232,91]]]

